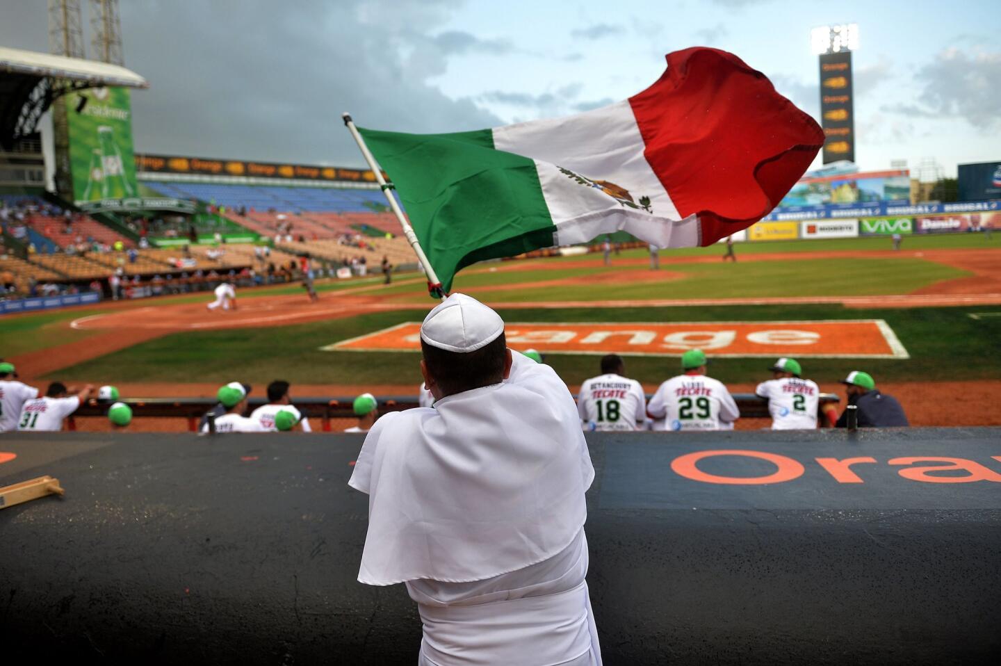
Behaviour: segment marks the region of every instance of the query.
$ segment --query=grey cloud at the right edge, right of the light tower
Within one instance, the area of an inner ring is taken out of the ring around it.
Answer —
[[[974,127],[1001,126],[1001,53],[950,48],[915,74],[923,84],[917,103],[888,104],[883,111],[914,118],[962,118]]]

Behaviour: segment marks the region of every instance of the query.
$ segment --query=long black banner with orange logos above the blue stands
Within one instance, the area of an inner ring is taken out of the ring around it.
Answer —
[[[235,159],[205,159],[181,155],[136,155],[136,166],[144,173],[197,173],[201,175],[286,178],[327,182],[375,182],[375,175],[364,169],[277,162],[246,162]]]

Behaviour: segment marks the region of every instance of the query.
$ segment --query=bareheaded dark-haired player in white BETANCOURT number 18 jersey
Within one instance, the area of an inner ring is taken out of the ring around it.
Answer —
[[[584,430],[647,429],[647,396],[636,380],[623,377],[626,366],[615,354],[602,357],[602,374],[586,380],[577,398]]]

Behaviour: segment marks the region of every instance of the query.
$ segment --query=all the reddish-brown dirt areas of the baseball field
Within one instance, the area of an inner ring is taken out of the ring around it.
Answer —
[[[807,296],[807,297],[768,297],[768,298],[717,298],[717,299],[651,299],[651,300],[614,300],[614,301],[547,301],[547,302],[490,302],[498,308],[612,308],[635,306],[672,306],[672,305],[753,305],[753,304],[796,304],[796,303],[841,303],[848,307],[921,307],[936,305],[1001,305],[1001,261],[997,250],[984,249],[932,249],[922,252],[907,252],[892,250],[876,250],[865,252],[827,251],[827,252],[784,252],[741,254],[741,261],[772,261],[772,260],[803,260],[817,258],[872,258],[917,257],[936,261],[973,273],[970,277],[946,280],[929,285],[914,293],[881,296]],[[718,262],[718,256],[686,256],[672,257],[670,261],[662,261],[665,268],[686,263]],[[616,257],[616,265],[646,266],[647,257]],[[473,268],[470,272],[480,270],[540,270],[567,269],[577,267],[600,267],[604,262],[601,257],[589,257],[564,261],[548,261],[533,259],[529,261],[505,262],[488,268]],[[603,281],[621,280],[634,283],[643,281],[647,273],[633,271],[634,274],[619,273],[601,275]],[[652,273],[653,274],[653,273]],[[672,279],[677,273],[670,270],[660,270],[656,280]],[[653,277],[651,277],[653,279]],[[412,280],[414,283],[419,280]],[[525,288],[553,286],[564,284],[591,284],[596,277],[572,277],[554,280],[540,280],[522,283]],[[398,282],[397,282],[398,283]],[[417,287],[415,287],[417,288]],[[490,287],[477,287],[489,291]],[[508,288],[508,287],[505,287]],[[88,306],[79,308],[79,316],[67,325],[76,329],[86,329],[97,332],[83,343],[73,343],[48,348],[42,351],[24,354],[10,359],[30,375],[28,380],[34,380],[36,386],[43,381],[38,380],[49,373],[71,366],[82,361],[94,359],[113,352],[127,349],[161,336],[186,330],[206,330],[222,328],[243,328],[260,326],[279,326],[288,323],[303,323],[307,321],[330,320],[350,317],[357,314],[375,311],[393,311],[412,309],[414,313],[426,311],[431,304],[428,302],[395,302],[392,295],[381,295],[369,286],[324,292],[316,303],[308,302],[302,295],[274,295],[270,297],[248,298],[241,300],[239,309],[234,311],[210,311],[204,302],[177,303],[165,299],[160,304],[149,304],[151,301],[102,303],[99,307]],[[208,296],[206,295],[206,301]],[[88,313],[95,309],[110,310],[102,313]],[[21,315],[13,315],[21,316]],[[202,396],[214,394],[215,385],[180,384],[180,385],[119,385],[124,395],[142,397],[175,397]],[[309,396],[351,396],[361,390],[372,391],[379,395],[413,395],[415,386],[300,386],[299,395]],[[649,390],[656,387],[648,387]],[[840,390],[840,387],[825,387],[828,391]],[[735,391],[753,390],[753,387],[739,388]],[[914,425],[1001,425],[1001,411],[996,406],[1001,403],[1001,382],[953,382],[926,384],[901,384],[888,386],[887,391],[896,395],[904,403]],[[957,415],[962,415],[960,419]],[[100,420],[98,420],[100,421]],[[157,428],[169,427],[164,420]],[[137,424],[138,426],[139,424]],[[759,428],[763,424],[746,421],[741,427]],[[766,424],[767,425],[767,424]],[[143,424],[145,429],[145,424]],[[150,426],[152,428],[152,426]]]

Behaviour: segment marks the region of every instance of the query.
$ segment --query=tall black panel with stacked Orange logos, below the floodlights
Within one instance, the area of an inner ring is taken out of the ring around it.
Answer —
[[[824,128],[824,163],[855,161],[855,103],[852,52],[820,56],[820,117]]]

